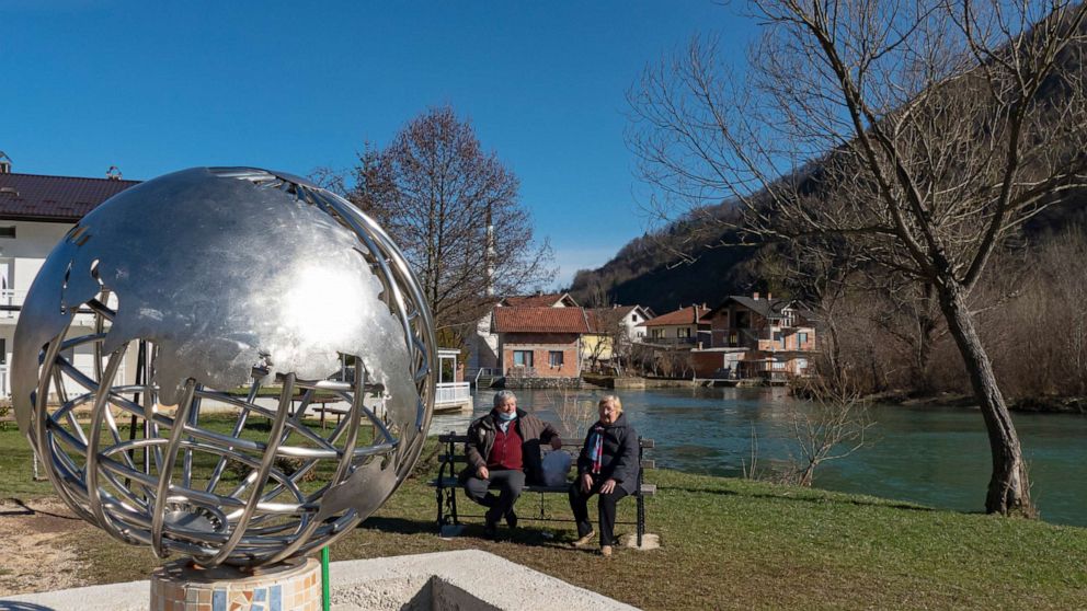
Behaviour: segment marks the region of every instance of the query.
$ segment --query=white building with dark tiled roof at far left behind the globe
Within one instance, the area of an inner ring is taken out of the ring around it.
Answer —
[[[0,153],[0,396],[11,394],[9,366],[12,338],[26,291],[53,247],[76,222],[99,204],[139,184],[110,178],[14,174]],[[92,316],[77,315],[76,325],[91,324]],[[88,333],[90,328],[88,327]],[[91,353],[70,355],[84,371],[92,368]],[[122,377],[130,377],[122,367]],[[125,380],[118,380],[125,383]]]

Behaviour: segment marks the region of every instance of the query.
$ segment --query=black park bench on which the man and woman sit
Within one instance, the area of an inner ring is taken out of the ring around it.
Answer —
[[[467,441],[467,435],[457,434],[455,431],[449,431],[438,436],[438,442],[445,446],[445,448],[444,452],[438,454],[438,475],[430,482],[430,485],[434,486],[435,496],[437,498],[437,527],[439,532],[443,527],[460,524],[460,514],[457,510],[457,491],[460,488],[458,476],[465,465],[468,464],[468,458],[465,456],[465,442]],[[645,450],[651,450],[653,448],[654,443],[652,439],[645,439],[642,437],[638,438],[638,485],[634,487],[633,497],[638,505],[638,518],[634,523],[637,524],[637,542],[639,547],[641,547],[642,537],[645,534],[645,497],[656,494],[656,484],[647,484],[643,481],[644,470],[655,468],[654,461],[647,460],[644,457]],[[574,465],[573,469],[576,470],[577,454],[581,452],[581,443],[563,443],[562,450],[554,451],[570,452],[572,454],[572,463]],[[572,482],[568,482],[561,486],[547,486],[544,484],[526,483],[525,487],[522,489],[522,497],[524,497],[525,493],[539,493],[540,511],[539,516],[526,516],[525,519],[542,521],[552,520],[552,518],[547,516],[546,506],[544,504],[544,495],[561,494],[565,496],[572,484]]]

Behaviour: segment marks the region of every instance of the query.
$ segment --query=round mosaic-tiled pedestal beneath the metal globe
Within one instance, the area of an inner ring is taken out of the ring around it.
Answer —
[[[199,568],[191,560],[151,575],[150,611],[319,611],[321,563],[293,558],[254,570]]]

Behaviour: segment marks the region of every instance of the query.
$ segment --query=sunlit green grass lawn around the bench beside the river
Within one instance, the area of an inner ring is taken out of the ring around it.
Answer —
[[[667,470],[647,476],[659,486],[647,511],[660,550],[618,550],[608,561],[569,549],[571,522],[525,520],[537,495],[519,502],[512,535],[485,540],[477,518],[446,541],[425,484],[436,453],[432,441],[416,475],[332,547],[333,561],[481,549],[645,609],[1087,608],[1087,529]],[[0,433],[0,496],[50,494],[30,482],[30,450],[13,428]],[[563,498],[547,504],[569,518]],[[478,514],[470,502],[461,508]],[[633,508],[621,503],[620,520]],[[94,583],[145,579],[158,562],[96,529],[72,543]]]

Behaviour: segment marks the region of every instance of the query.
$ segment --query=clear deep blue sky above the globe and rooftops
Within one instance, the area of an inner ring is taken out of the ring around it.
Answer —
[[[755,27],[706,0],[159,4],[0,0],[15,172],[305,175],[449,104],[520,178],[557,286],[645,228],[622,138],[644,66],[695,33],[743,57]]]

